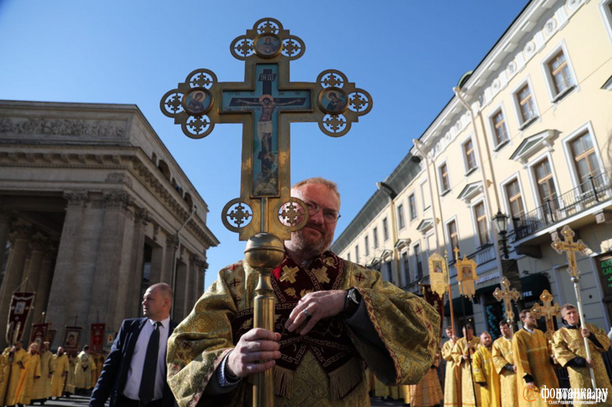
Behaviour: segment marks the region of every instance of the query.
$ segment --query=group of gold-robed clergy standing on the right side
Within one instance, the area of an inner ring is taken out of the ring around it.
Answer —
[[[548,403],[542,400],[541,394],[537,397],[531,386],[557,389],[560,387],[558,371],[567,368],[570,388],[589,389],[592,388],[589,368],[592,368],[596,388],[608,395],[605,401],[599,400],[595,405],[612,406],[612,386],[602,359],[602,354],[610,348],[608,334],[589,323],[581,328],[578,310],[572,304],[561,307],[561,317],[564,326],[550,339],[537,329],[537,320],[529,310],[521,312],[523,327],[517,332],[513,333],[512,327],[501,321],[501,336],[494,341],[489,332],[476,336],[470,325],[463,327],[461,338],[448,327],[449,339],[440,352],[446,361],[443,386],[436,359],[420,383],[410,386],[386,386],[371,375],[371,394],[403,399],[411,407],[540,407]],[[589,343],[590,359],[584,338]],[[573,405],[580,404],[573,400]]]

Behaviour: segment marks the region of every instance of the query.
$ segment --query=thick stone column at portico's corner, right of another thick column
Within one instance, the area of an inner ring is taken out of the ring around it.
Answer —
[[[122,271],[123,248],[129,246],[129,242],[125,240],[125,226],[126,223],[132,222],[130,211],[132,205],[132,197],[121,189],[106,191],[104,194],[104,215],[95,265],[94,290],[91,293],[89,321],[100,318],[101,323],[106,323],[114,330],[119,329],[119,326],[114,326],[112,316],[116,312],[115,298],[119,274]]]

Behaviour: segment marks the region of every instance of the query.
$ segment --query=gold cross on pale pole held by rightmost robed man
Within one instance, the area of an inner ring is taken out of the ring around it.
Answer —
[[[565,225],[563,229],[561,229],[561,235],[565,237],[565,240],[562,241],[558,237],[553,240],[553,243],[550,245],[552,248],[558,253],[563,254],[565,252],[567,254],[567,273],[570,274],[570,280],[574,285],[574,294],[576,295],[576,303],[578,306],[578,314],[580,314],[580,328],[586,328],[586,323],[584,322],[584,312],[582,308],[582,299],[580,297],[580,270],[578,270],[578,266],[576,263],[576,252],[581,252],[582,254],[586,254],[587,247],[586,244],[583,243],[582,240],[578,240],[577,242],[573,241],[573,237],[576,235],[569,226]],[[584,339],[584,350],[586,351],[586,357],[591,359],[591,348],[589,347],[589,340],[587,338]],[[589,369],[591,372],[591,385],[593,389],[597,389],[595,386],[595,373],[593,369]]]

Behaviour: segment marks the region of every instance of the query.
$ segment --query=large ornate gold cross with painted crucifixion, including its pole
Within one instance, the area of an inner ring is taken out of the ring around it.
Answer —
[[[196,69],[160,101],[190,138],[206,137],[217,123],[242,123],[241,193],[225,205],[222,220],[248,240],[245,259],[259,271],[253,325],[271,331],[271,271],[282,262],[283,240],[308,221],[304,202],[291,197],[290,123],[318,122],[323,133],[339,137],[372,108],[370,94],[338,70],[319,73],[315,82],[289,81],[289,62],[305,48],[280,21],[262,18],[230,45],[245,61],[244,82],[219,82],[213,71]],[[271,406],[273,397],[271,370],[258,373],[253,405]]]

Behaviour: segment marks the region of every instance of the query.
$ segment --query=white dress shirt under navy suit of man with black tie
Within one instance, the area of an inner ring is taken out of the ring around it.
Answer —
[[[138,393],[140,392],[140,381],[143,378],[144,357],[147,353],[149,338],[155,330],[154,320],[147,319],[143,329],[138,335],[134,353],[132,355],[132,363],[130,370],[127,372],[127,380],[123,395],[132,400],[140,400]],[[166,381],[165,364],[166,364],[166,342],[168,342],[168,329],[170,329],[170,317],[160,321],[162,326],[159,327],[159,350],[157,351],[157,372],[155,373],[155,391],[153,392],[153,400],[158,400],[163,397],[163,384]]]

